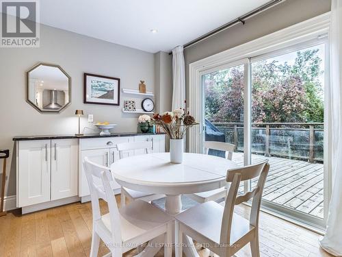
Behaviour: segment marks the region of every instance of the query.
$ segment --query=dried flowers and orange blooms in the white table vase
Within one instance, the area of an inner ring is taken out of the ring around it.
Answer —
[[[152,122],[163,127],[163,130],[171,139],[183,139],[190,127],[197,125],[194,117],[184,109],[179,108],[173,112],[154,114]]]

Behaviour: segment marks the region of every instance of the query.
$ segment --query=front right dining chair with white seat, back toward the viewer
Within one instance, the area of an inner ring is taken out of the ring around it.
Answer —
[[[233,256],[248,243],[252,257],[259,257],[259,212],[268,171],[267,161],[228,170],[226,181],[231,186],[224,206],[207,201],[177,215],[176,256],[182,256],[183,236],[189,236],[220,257]],[[257,177],[258,184],[252,191],[237,196],[240,182]],[[253,200],[249,220],[234,213],[235,205],[250,199]]]

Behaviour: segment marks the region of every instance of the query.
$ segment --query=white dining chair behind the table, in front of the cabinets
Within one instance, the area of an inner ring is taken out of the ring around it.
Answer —
[[[132,142],[132,143],[120,143],[116,145],[116,148],[119,151],[120,159],[124,158],[124,154],[129,154],[131,151],[142,150],[145,154],[150,154],[150,149],[152,149],[152,144],[150,142]],[[137,167],[139,169],[139,167]],[[120,206],[124,207],[126,205],[126,198],[131,201],[135,201],[137,199],[143,201],[153,201],[156,199],[160,199],[166,197],[166,195],[155,195],[153,193],[144,193],[140,191],[135,191],[129,188],[125,188],[121,186],[121,201]]]

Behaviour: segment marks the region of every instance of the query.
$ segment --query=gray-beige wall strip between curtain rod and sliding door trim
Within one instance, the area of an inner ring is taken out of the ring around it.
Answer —
[[[240,23],[186,48],[186,84],[189,82],[190,63],[329,12],[330,5],[331,0],[286,0],[247,19],[245,25]]]

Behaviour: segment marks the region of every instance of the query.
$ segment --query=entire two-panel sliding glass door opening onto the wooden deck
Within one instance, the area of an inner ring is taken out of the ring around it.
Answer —
[[[203,140],[233,143],[233,160],[241,165],[269,160],[263,206],[321,226],[326,47],[315,40],[202,75]],[[240,193],[256,182],[241,185]]]

